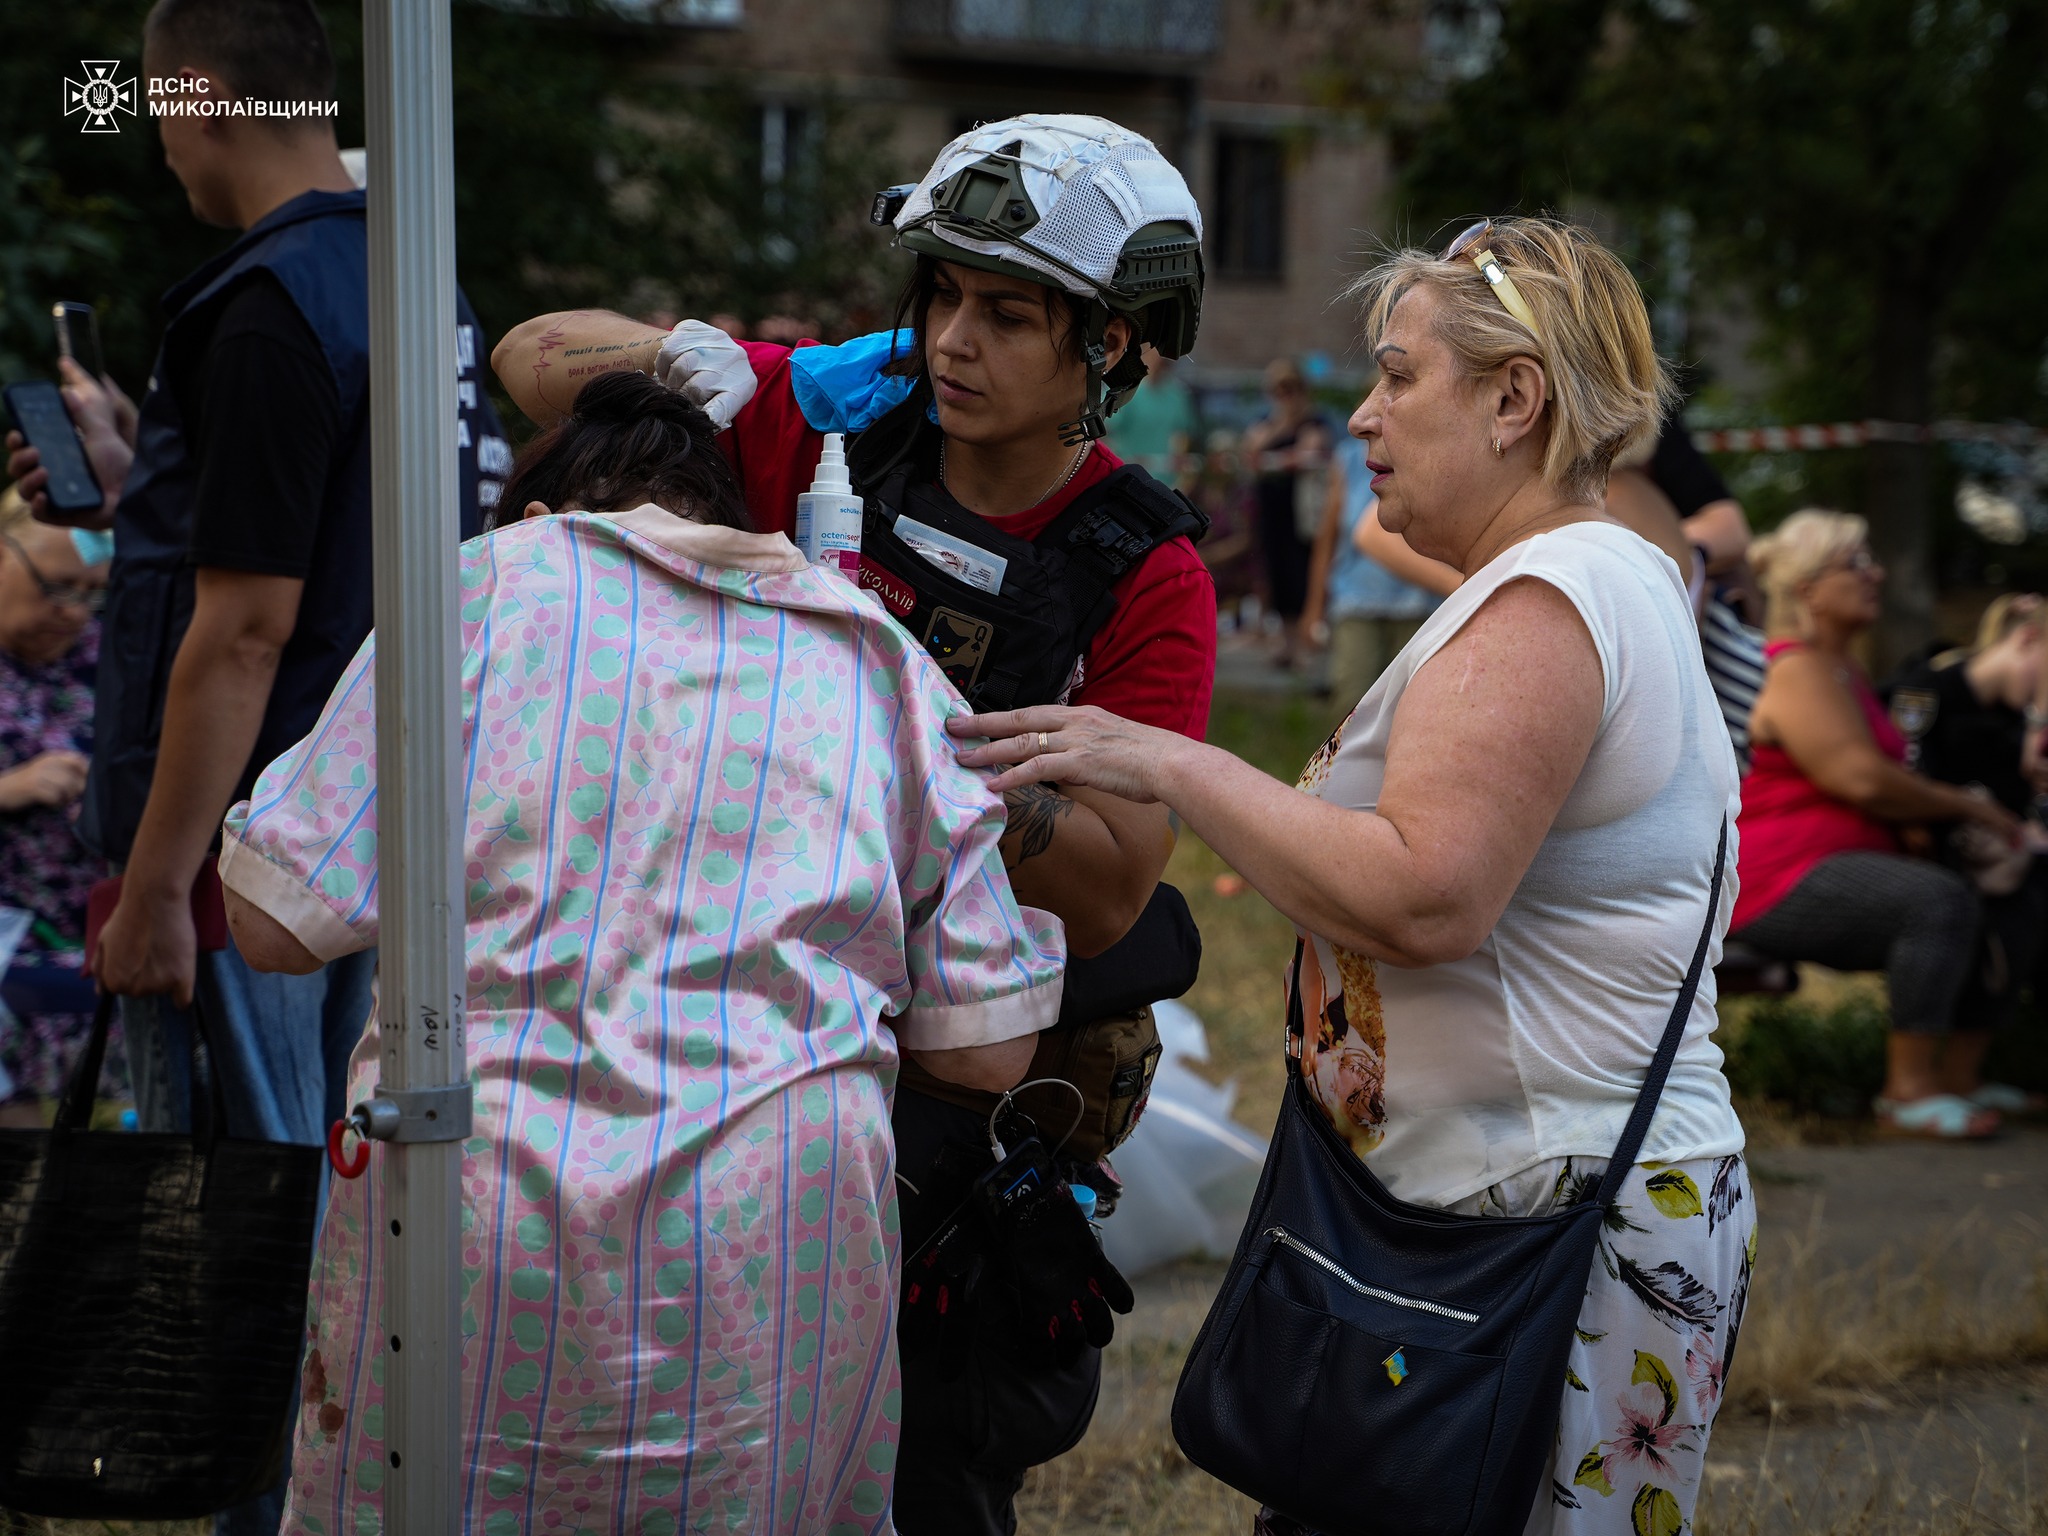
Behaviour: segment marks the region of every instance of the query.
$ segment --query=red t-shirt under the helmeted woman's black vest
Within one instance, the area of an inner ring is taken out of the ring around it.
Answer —
[[[811,489],[821,432],[803,420],[791,389],[786,346],[743,342],[760,389],[731,432],[719,436],[739,471],[748,510],[762,532],[791,532],[797,498]],[[989,526],[1014,539],[1036,539],[1067,504],[1118,469],[1122,459],[1102,442],[1059,494]],[[1208,731],[1208,694],[1217,680],[1217,584],[1186,539],[1159,545],[1112,588],[1116,610],[1081,653],[1071,705],[1096,705],[1167,731],[1200,739]]]

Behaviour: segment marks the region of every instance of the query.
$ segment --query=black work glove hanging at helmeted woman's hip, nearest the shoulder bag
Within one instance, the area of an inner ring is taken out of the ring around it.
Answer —
[[[1106,1346],[1116,1333],[1110,1315],[1128,1313],[1137,1298],[1042,1147],[1030,1141],[1010,1161],[1018,1159],[1030,1167],[977,1188],[985,1282],[1008,1292],[1004,1311],[1012,1313],[999,1341],[1024,1360],[1069,1364],[1083,1346]]]

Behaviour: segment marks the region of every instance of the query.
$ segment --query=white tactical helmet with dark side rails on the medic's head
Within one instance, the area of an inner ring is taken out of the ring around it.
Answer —
[[[1010,272],[1092,299],[1087,399],[1063,432],[1104,432],[1145,377],[1137,342],[1165,356],[1194,348],[1202,317],[1202,209],[1159,150],[1106,117],[1024,113],[963,133],[915,186],[874,201],[874,221],[922,256]],[[1102,330],[1124,315],[1137,336],[1104,369]],[[1102,389],[1108,385],[1104,408]]]

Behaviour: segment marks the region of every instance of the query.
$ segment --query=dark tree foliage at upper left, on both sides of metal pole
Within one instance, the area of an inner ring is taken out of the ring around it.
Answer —
[[[100,309],[109,367],[143,383],[158,297],[231,236],[190,217],[147,104],[119,133],[78,133],[61,82],[80,59],[141,76],[141,0],[0,6],[0,377],[49,373],[49,301]],[[322,0],[342,145],[362,143],[360,8]],[[735,84],[659,72],[678,33],[598,0],[551,14],[457,0],[457,270],[496,336],[545,311],[772,313],[827,336],[887,319],[897,262],[864,227],[891,180],[872,115],[791,109],[780,176],[762,106]],[[770,172],[770,174],[764,174]]]

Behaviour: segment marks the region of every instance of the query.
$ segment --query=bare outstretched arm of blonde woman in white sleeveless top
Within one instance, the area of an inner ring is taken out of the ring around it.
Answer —
[[[1296,926],[1393,965],[1440,965],[1493,930],[1579,778],[1599,711],[1599,655],[1571,600],[1513,582],[1403,694],[1376,811],[1100,709],[969,715],[946,729],[991,737],[961,762],[1016,764],[995,788],[1092,780],[1165,801]],[[1501,778],[1509,760],[1516,774]]]

